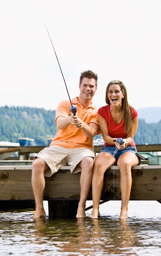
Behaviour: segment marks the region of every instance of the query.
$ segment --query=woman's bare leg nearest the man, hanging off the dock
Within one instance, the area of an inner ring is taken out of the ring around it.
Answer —
[[[109,166],[113,165],[115,158],[107,152],[101,152],[96,157],[94,163],[94,171],[92,178],[92,199],[93,210],[90,218],[98,218],[99,216],[99,202],[101,199],[101,192],[103,188],[104,173]]]

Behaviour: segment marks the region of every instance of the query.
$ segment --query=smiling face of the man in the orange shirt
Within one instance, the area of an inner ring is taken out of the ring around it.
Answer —
[[[80,95],[84,100],[90,100],[94,96],[97,88],[96,82],[94,78],[86,78],[84,77],[82,80],[82,84],[79,84]]]

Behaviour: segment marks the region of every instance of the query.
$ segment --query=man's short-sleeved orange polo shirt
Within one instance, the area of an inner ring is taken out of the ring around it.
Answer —
[[[90,104],[87,108],[79,103],[78,97],[71,100],[73,105],[76,105],[76,116],[82,119],[87,125],[90,122],[98,122],[98,109],[93,104]],[[65,100],[59,103],[56,108],[56,119],[58,116],[68,117],[71,114],[70,111],[71,103],[69,100]],[[56,122],[56,121],[55,121]],[[64,148],[90,148],[93,149],[93,139],[88,138],[83,133],[82,129],[76,128],[74,125],[69,125],[66,129],[58,130],[54,139],[52,140],[51,146],[56,145]]]

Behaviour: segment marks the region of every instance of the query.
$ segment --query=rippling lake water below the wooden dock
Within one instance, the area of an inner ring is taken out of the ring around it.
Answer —
[[[87,202],[87,207],[91,205]],[[120,221],[121,201],[100,205],[99,219],[33,220],[33,209],[0,212],[0,255],[161,256],[161,204],[130,201]],[[91,209],[87,211],[87,216]]]

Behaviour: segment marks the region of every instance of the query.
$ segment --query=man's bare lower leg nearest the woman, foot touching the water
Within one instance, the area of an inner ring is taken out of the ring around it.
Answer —
[[[85,218],[85,203],[88,198],[88,193],[92,183],[93,175],[93,158],[84,157],[79,163],[79,166],[82,168],[81,177],[80,177],[80,200],[78,204],[78,210],[76,218]]]

